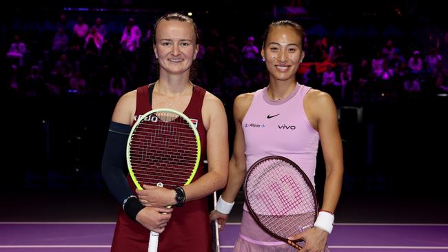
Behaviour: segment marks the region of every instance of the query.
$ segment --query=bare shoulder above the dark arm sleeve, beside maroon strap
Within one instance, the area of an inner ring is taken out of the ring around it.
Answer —
[[[135,114],[136,99],[136,90],[123,94],[118,103],[116,103],[112,120],[116,123],[132,124],[132,118]]]

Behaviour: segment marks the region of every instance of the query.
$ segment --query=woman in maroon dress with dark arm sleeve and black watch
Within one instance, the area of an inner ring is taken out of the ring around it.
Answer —
[[[112,195],[123,204],[116,222],[112,251],[147,251],[150,231],[161,233],[159,251],[210,251],[211,235],[206,196],[227,180],[227,118],[216,96],[190,81],[198,52],[196,25],[189,17],[171,13],[154,29],[154,53],[159,80],[124,94],[116,104],[103,157],[103,177]],[[136,190],[125,169],[125,145],[130,127],[151,109],[176,109],[196,124],[208,171],[201,162],[194,181],[182,190],[145,186]],[[166,209],[168,205],[182,207]],[[165,214],[163,214],[165,213]]]

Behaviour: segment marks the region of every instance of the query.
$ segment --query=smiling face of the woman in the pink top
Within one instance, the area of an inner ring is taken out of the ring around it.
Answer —
[[[270,28],[261,56],[265,59],[272,81],[294,80],[305,54],[302,38],[294,28],[282,25]]]

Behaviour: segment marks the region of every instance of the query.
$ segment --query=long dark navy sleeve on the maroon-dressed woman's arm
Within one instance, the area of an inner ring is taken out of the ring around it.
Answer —
[[[101,174],[108,185],[112,196],[123,204],[125,198],[134,195],[128,180],[126,180],[125,167],[126,145],[131,131],[130,125],[122,123],[110,123],[108,138],[105,142],[103,162],[101,164]],[[127,171],[127,169],[126,169]]]

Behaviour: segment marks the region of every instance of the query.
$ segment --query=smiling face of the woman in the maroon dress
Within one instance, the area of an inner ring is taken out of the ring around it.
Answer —
[[[189,74],[197,52],[192,23],[163,20],[156,26],[154,53],[159,59],[161,74]]]

